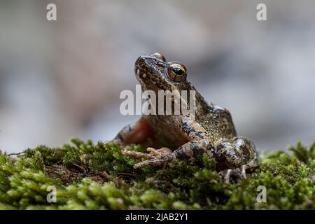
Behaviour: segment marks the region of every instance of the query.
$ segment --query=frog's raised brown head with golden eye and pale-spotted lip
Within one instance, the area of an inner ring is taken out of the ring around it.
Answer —
[[[140,56],[134,66],[144,90],[188,90],[186,67],[180,62],[166,62],[160,53]]]

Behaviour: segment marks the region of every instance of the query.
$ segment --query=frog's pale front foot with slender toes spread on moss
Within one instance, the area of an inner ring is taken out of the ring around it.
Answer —
[[[134,165],[134,169],[144,167],[144,166],[154,166],[154,167],[160,167],[162,165],[167,165],[169,162],[173,160],[172,158],[172,151],[169,148],[163,147],[160,149],[155,149],[148,147],[146,148],[146,151],[149,153],[141,153],[137,151],[123,151],[124,155],[131,155],[137,158],[146,158],[148,160],[139,162],[136,165]]]

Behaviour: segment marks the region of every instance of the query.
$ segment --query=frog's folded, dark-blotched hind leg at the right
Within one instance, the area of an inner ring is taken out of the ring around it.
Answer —
[[[223,170],[225,181],[230,181],[230,176],[240,176],[246,179],[246,169],[258,166],[258,155],[254,144],[244,138],[235,137],[232,141],[221,141],[216,144],[214,151],[218,168]]]

